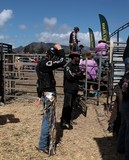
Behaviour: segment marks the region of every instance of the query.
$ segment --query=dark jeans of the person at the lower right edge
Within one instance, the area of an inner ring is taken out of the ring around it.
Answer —
[[[120,105],[121,126],[118,134],[117,151],[125,153],[125,160],[129,160],[129,102]]]

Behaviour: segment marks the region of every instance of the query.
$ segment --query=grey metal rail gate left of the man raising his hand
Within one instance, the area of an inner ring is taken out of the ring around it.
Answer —
[[[3,54],[4,103],[11,98],[33,99],[37,96],[35,68],[42,56],[44,54]]]

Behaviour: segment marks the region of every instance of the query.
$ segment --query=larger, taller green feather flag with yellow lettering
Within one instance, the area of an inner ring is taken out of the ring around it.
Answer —
[[[100,25],[101,25],[102,40],[109,41],[109,29],[108,29],[107,20],[101,14],[99,14],[99,19],[100,19]]]

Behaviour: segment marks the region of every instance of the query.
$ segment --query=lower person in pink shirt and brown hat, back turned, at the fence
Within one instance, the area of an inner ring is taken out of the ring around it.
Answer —
[[[89,90],[90,87],[92,85],[94,90],[97,90],[98,85],[95,84],[97,82],[96,78],[97,78],[97,71],[98,71],[98,65],[96,63],[96,61],[93,58],[93,54],[91,51],[88,51],[86,53],[86,58],[83,59],[83,61],[81,61],[80,63],[80,69],[82,72],[86,72],[87,70],[87,96],[89,96]],[[85,78],[85,76],[84,76]],[[93,82],[95,82],[93,84]]]

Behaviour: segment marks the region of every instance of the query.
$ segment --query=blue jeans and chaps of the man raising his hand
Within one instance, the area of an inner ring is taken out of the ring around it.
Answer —
[[[49,148],[51,126],[52,126],[52,123],[55,123],[55,121],[52,122],[52,118],[51,118],[52,116],[51,111],[53,108],[55,109],[55,99],[56,99],[55,93],[53,92],[45,92],[44,96],[42,97],[43,119],[42,119],[41,133],[40,133],[40,139],[39,139],[40,149]]]

